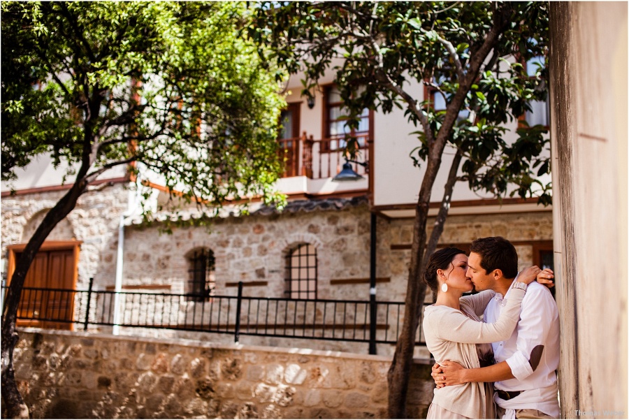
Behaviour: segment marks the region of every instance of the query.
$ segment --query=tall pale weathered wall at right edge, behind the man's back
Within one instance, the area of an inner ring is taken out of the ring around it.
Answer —
[[[628,415],[627,16],[625,2],[551,2],[554,249],[566,418]]]

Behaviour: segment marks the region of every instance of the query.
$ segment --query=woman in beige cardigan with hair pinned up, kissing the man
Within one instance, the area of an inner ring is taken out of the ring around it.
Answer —
[[[498,321],[486,324],[479,317],[495,293],[487,290],[472,299],[459,300],[472,290],[472,281],[465,276],[467,270],[468,257],[461,249],[444,248],[431,255],[424,280],[437,291],[437,301],[424,312],[424,337],[437,363],[449,360],[464,368],[480,368],[491,365],[491,342],[507,340],[513,333],[526,287],[512,291]],[[527,268],[515,284],[529,284],[539,272],[535,266]],[[494,414],[491,384],[469,382],[435,389],[427,418],[493,419]]]

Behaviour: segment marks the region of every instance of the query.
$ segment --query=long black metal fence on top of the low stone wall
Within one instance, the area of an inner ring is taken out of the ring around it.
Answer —
[[[94,290],[92,281],[87,290],[24,287],[18,309],[22,323],[43,328],[117,325],[231,334],[236,342],[240,335],[257,335],[372,345],[395,344],[403,317],[403,302],[249,297],[243,296],[242,283],[237,296],[202,300],[189,294]],[[416,344],[425,345],[418,330]]]

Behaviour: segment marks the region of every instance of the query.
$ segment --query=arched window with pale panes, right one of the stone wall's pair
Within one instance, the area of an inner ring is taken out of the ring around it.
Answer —
[[[286,256],[286,294],[291,299],[317,298],[317,249],[306,243]]]

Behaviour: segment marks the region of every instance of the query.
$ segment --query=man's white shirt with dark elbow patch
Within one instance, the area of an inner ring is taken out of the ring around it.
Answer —
[[[514,280],[515,282],[515,280]],[[485,322],[496,322],[500,310],[509,299],[496,294],[484,312]],[[533,371],[529,359],[533,349],[543,345],[544,351],[537,368]],[[559,312],[557,304],[549,289],[542,284],[533,282],[528,285],[522,300],[520,320],[515,331],[505,341],[493,342],[493,357],[496,363],[507,361],[515,379],[496,382],[496,389],[503,391],[524,391],[509,400],[495,395],[500,407],[507,410],[509,417],[512,410],[540,410],[549,416],[559,417],[559,401],[557,398],[557,375],[559,365]],[[509,410],[510,409],[510,410]]]

